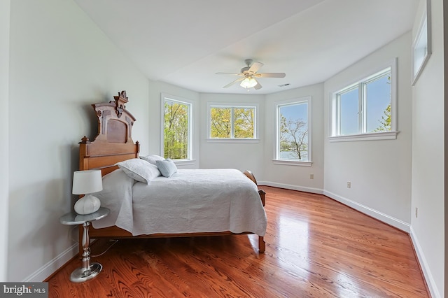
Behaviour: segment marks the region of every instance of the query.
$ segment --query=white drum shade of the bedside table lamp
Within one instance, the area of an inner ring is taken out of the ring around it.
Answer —
[[[103,190],[101,170],[73,172],[72,194],[92,194]]]

